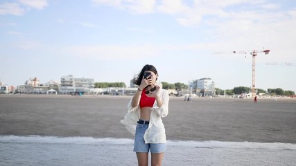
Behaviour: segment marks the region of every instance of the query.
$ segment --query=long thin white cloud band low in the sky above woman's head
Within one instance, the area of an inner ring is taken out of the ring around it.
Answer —
[[[65,55],[73,55],[85,59],[119,60],[119,59],[150,59],[172,56],[171,53],[182,50],[209,50],[211,44],[138,44],[138,45],[78,45],[67,46],[55,50]]]

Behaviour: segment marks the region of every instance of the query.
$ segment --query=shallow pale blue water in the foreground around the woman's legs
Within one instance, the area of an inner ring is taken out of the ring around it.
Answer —
[[[0,136],[0,165],[137,165],[133,140]],[[289,143],[168,140],[162,165],[296,165]]]

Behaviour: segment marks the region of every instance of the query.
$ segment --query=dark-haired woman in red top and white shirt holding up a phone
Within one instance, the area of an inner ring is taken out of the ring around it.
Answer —
[[[121,120],[126,129],[135,135],[134,151],[139,165],[162,165],[166,151],[166,133],[162,118],[168,115],[168,91],[157,84],[158,73],[153,65],[146,64],[134,84],[139,88],[128,103],[128,113]]]

